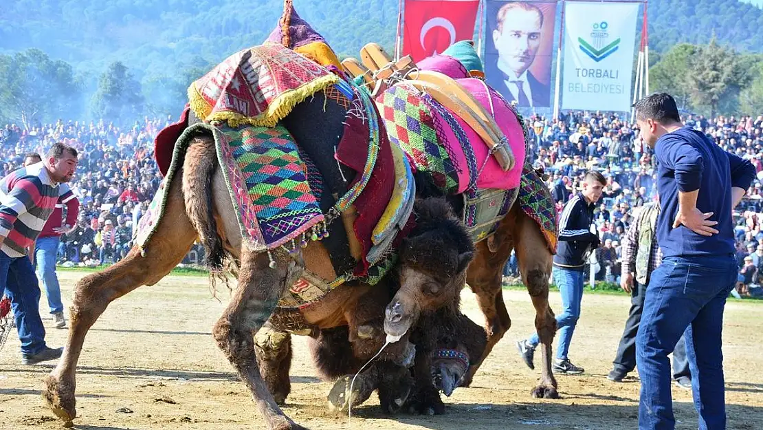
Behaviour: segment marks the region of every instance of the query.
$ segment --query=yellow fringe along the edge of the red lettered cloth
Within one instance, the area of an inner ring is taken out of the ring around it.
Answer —
[[[275,124],[278,124],[278,121],[285,118],[285,116],[291,112],[291,109],[299,103],[304,102],[307,97],[310,97],[316,92],[325,89],[327,86],[332,86],[337,82],[339,82],[339,76],[329,74],[320,76],[320,78],[313,79],[310,82],[306,82],[298,88],[282,92],[268,105],[266,112],[254,118],[246,117],[238,112],[232,111],[211,113],[212,108],[198,92],[198,89],[196,89],[196,82],[188,87],[188,104],[190,105],[192,112],[198,118],[204,118],[204,122],[227,121],[230,127],[239,127],[243,124],[250,124],[256,127],[275,127]]]

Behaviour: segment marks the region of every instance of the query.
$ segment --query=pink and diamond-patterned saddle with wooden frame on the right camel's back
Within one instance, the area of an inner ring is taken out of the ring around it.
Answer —
[[[394,61],[367,44],[361,61],[342,65],[375,98],[393,144],[441,192],[464,198],[464,222],[477,242],[488,238],[517,200],[556,247],[548,189],[524,163],[528,137],[513,105],[485,83],[470,40],[414,63]]]

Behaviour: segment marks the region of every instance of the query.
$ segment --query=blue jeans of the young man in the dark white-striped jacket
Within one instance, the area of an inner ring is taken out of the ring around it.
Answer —
[[[570,270],[562,267],[553,268],[554,283],[562,293],[562,313],[556,315],[556,329],[559,330],[559,346],[556,358],[565,360],[572,341],[572,333],[580,318],[580,303],[583,300],[583,270]],[[539,343],[538,333],[527,340],[535,348]]]

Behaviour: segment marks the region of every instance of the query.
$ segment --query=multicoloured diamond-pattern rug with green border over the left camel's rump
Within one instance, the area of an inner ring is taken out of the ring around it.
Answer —
[[[162,217],[169,185],[185,157],[192,138],[211,134],[217,149],[231,202],[243,238],[253,251],[268,251],[288,244],[293,248],[325,232],[320,212],[307,180],[307,167],[285,128],[194,124],[175,144],[169,172],[149,210],[139,223],[136,244],[145,249]]]

